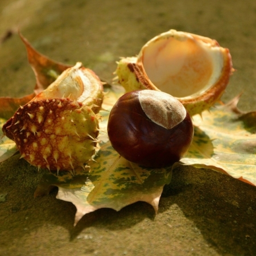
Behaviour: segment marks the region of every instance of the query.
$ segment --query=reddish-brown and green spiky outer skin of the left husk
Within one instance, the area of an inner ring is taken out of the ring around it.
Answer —
[[[3,133],[33,166],[72,171],[84,168],[94,154],[98,119],[91,108],[69,98],[35,100],[16,111]]]

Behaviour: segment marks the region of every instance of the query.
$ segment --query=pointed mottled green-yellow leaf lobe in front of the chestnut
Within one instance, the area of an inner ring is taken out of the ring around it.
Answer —
[[[59,187],[57,198],[71,201],[77,208],[75,224],[96,209],[120,210],[137,201],[145,201],[158,211],[163,186],[171,180],[171,167],[166,170],[139,167],[119,156],[110,143],[102,145],[95,160],[81,188]]]

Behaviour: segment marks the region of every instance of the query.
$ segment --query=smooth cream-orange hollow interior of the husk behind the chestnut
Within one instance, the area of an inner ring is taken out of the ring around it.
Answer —
[[[224,65],[221,49],[191,34],[168,31],[146,43],[138,59],[158,89],[190,98],[217,82]]]

